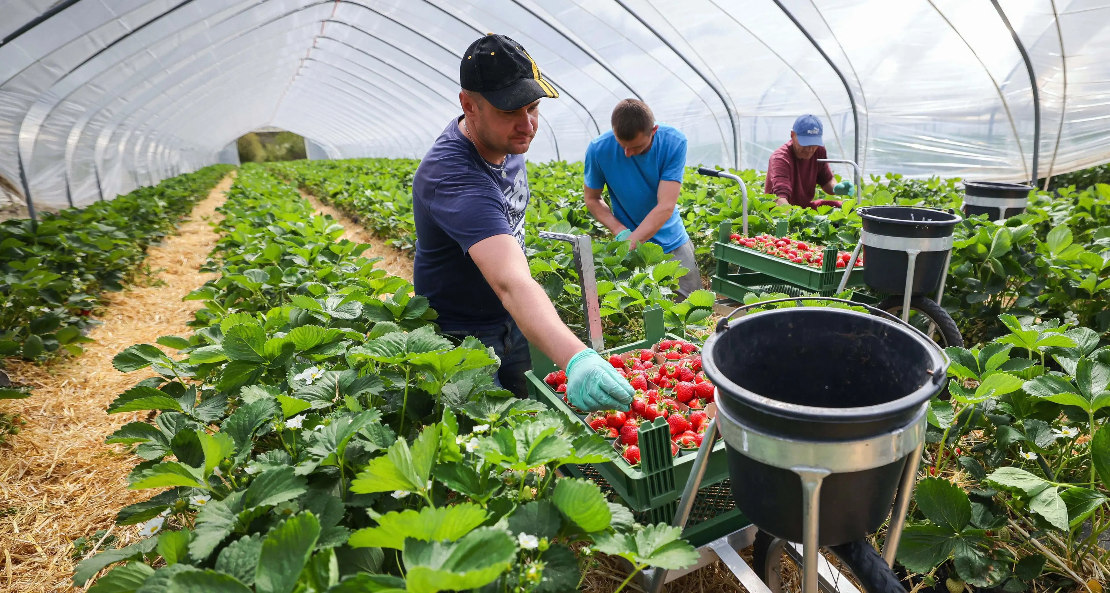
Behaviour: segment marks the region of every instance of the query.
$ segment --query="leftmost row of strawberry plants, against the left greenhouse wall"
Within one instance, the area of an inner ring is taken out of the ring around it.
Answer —
[[[102,290],[120,290],[147,247],[232,167],[213,165],[83,208],[0,223],[0,357],[80,354]]]

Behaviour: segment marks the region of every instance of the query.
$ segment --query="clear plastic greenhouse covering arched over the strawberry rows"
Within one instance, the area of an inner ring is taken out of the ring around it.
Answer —
[[[24,187],[22,168],[52,207],[216,162],[265,125],[333,159],[420,157],[491,31],[562,94],[532,161],[581,160],[629,96],[686,134],[689,164],[766,168],[803,113],[865,174],[1110,160],[1108,0],[52,2],[0,0],[0,174]]]

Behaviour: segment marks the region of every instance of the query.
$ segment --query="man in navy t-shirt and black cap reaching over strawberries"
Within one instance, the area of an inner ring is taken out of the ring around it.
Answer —
[[[451,121],[413,178],[413,284],[445,334],[474,336],[501,358],[497,382],[527,395],[528,341],[566,369],[566,395],[584,410],[628,409],[632,386],[586,348],[532,279],[524,255],[528,178],[523,154],[539,99],[558,98],[519,43],[488,34],[460,65],[463,116]]]

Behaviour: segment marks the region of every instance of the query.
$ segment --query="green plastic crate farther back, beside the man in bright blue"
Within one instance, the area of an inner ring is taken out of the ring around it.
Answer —
[[[780,228],[780,231],[785,232],[785,228]],[[720,223],[720,228],[717,233],[717,241],[713,244],[713,256],[717,259],[717,270],[713,280],[716,283],[719,278],[723,280],[719,283],[722,286],[728,286],[728,283],[733,283],[738,286],[777,284],[789,285],[796,289],[809,293],[820,293],[825,296],[831,296],[836,292],[837,286],[840,284],[840,278],[844,276],[844,273],[847,272],[847,268],[836,267],[837,249],[833,247],[827,247],[825,249],[825,260],[820,269],[818,269],[803,264],[787,262],[781,257],[767,255],[755,249],[734,245],[728,238],[731,234],[733,223],[727,221]],[[748,284],[738,282],[736,278],[730,279],[729,277],[735,275],[729,274],[729,264],[739,266],[741,274],[759,273],[764,276],[743,278],[747,280]],[[717,290],[716,286],[717,284],[714,284],[715,292],[736,298],[737,300],[743,299],[743,295],[737,298],[737,296],[731,295],[728,292]],[[864,286],[864,266],[858,266],[852,269],[851,276],[848,277],[847,288],[856,288],[859,286]],[[789,292],[787,293],[789,294]]]

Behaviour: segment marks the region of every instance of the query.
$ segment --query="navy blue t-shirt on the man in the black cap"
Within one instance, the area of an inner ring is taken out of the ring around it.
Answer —
[[[416,255],[413,285],[447,331],[493,329],[509,320],[467,252],[482,239],[513,235],[524,249],[528,174],[524,155],[494,167],[452,120],[413,177]]]

